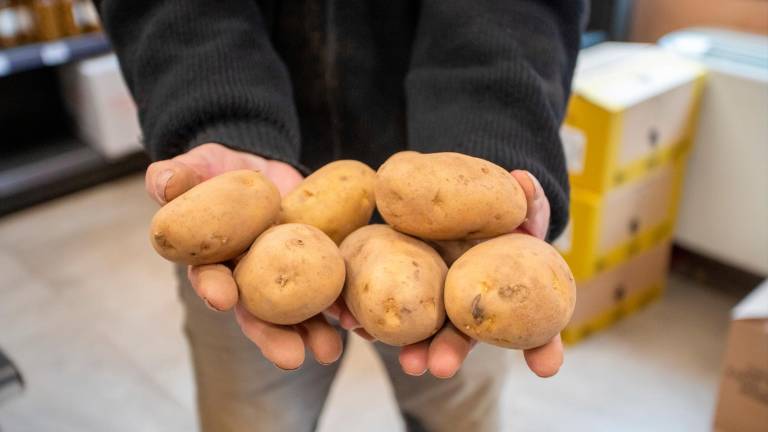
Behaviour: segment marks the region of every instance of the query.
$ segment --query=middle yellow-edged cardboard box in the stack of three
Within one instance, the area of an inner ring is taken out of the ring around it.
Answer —
[[[574,189],[570,221],[554,242],[577,281],[613,268],[671,236],[685,155],[603,195]]]

